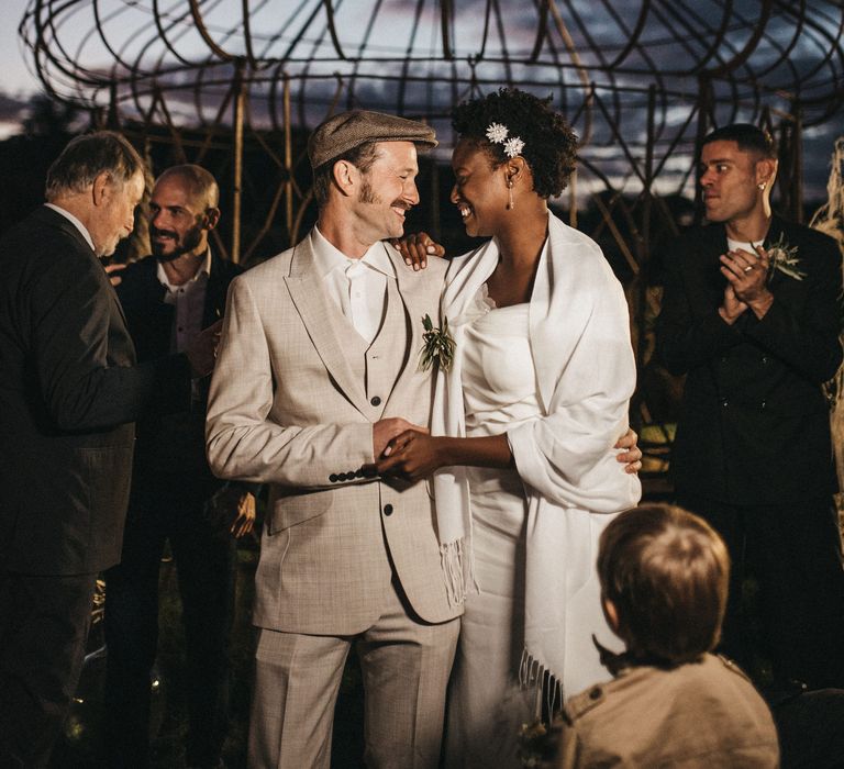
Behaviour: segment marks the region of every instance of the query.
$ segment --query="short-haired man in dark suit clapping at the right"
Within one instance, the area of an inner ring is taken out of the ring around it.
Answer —
[[[667,256],[659,348],[687,374],[673,471],[677,500],[724,536],[734,562],[724,650],[778,682],[844,686],[844,572],[834,525],[822,383],[842,350],[841,254],[771,214],[773,138],[753,125],[709,134],[710,225]],[[758,583],[760,632],[741,611]],[[763,640],[764,639],[764,640]]]

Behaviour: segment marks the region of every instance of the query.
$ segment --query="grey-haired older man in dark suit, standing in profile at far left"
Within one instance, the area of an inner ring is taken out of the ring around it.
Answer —
[[[135,363],[98,257],[132,232],[143,161],[71,141],[47,204],[0,241],[0,766],[45,766],[79,675],[97,573],[120,558],[133,422],[187,408],[215,331]]]

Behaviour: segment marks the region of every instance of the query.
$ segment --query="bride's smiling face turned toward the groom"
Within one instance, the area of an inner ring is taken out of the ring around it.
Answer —
[[[493,168],[491,155],[477,143],[462,138],[452,153],[454,187],[451,200],[457,207],[466,234],[496,235],[507,211],[507,164]]]

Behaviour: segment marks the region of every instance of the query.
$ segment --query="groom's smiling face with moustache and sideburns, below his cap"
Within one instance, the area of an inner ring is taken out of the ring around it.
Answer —
[[[404,234],[404,216],[419,202],[417,147],[412,142],[379,142],[365,174],[355,212],[373,243]]]

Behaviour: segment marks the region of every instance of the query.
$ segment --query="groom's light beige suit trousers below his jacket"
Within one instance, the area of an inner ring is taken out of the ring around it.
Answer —
[[[334,705],[356,643],[366,698],[366,766],[436,769],[458,632],[459,618],[431,624],[413,616],[395,581],[381,616],[357,636],[263,628],[248,766],[329,769]]]

